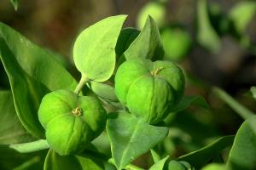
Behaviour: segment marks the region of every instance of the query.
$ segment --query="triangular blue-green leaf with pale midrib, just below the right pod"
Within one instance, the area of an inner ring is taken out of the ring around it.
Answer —
[[[128,113],[108,114],[107,133],[118,169],[152,149],[168,134],[167,127],[155,127]]]

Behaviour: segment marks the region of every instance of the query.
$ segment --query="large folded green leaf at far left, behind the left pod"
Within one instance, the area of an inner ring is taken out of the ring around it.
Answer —
[[[0,23],[0,58],[9,77],[15,110],[26,130],[38,138],[44,138],[38,121],[44,94],[59,88],[73,90],[77,85],[54,56]]]

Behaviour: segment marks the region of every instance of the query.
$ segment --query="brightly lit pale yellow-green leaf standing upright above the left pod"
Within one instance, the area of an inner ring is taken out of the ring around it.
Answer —
[[[113,74],[115,46],[126,15],[111,16],[82,31],[73,48],[73,59],[84,77],[104,82]]]

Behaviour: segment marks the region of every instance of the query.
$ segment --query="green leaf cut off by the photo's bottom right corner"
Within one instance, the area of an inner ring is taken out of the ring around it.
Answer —
[[[233,170],[256,169],[256,116],[251,116],[238,129],[228,167]]]

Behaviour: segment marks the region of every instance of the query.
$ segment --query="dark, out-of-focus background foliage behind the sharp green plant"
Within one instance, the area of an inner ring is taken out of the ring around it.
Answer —
[[[129,14],[125,26],[137,29],[143,28],[150,14],[160,27],[165,59],[176,61],[186,74],[185,94],[201,95],[210,105],[210,109],[192,105],[167,117],[169,136],[155,147],[163,156],[175,158],[236,133],[243,119],[212,92],[213,86],[256,111],[248,92],[256,84],[256,1],[20,0],[16,11],[8,0],[0,4],[0,21],[59,53],[77,78],[72,60],[75,38],[85,27],[115,14]],[[0,88],[9,89],[3,65],[0,74]],[[110,154],[105,133],[94,143]],[[224,150],[223,159],[228,151]],[[137,163],[147,167],[145,157],[150,156],[141,156]]]

